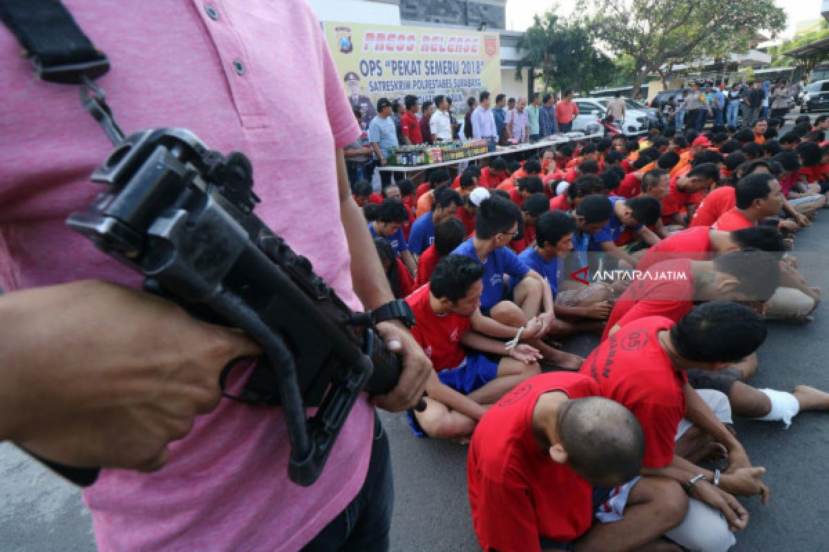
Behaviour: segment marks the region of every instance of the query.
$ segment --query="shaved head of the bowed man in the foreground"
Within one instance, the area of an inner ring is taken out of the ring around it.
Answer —
[[[642,469],[642,426],[618,402],[598,396],[567,401],[556,425],[570,467],[594,486],[621,485]]]

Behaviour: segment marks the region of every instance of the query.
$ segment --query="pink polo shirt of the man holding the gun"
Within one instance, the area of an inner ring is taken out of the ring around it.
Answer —
[[[185,127],[212,149],[245,151],[259,216],[361,309],[333,156],[360,132],[319,22],[301,0],[208,3],[216,20],[205,2],[65,0],[112,61],[99,84],[124,131]],[[90,173],[112,146],[78,89],[39,82],[20,50],[0,26],[0,286],[137,286],[64,224],[95,197]],[[372,426],[361,400],[322,477],[303,488],[287,478],[281,410],[222,401],[160,472],[105,471],[85,491],[99,550],[298,550],[359,491]]]

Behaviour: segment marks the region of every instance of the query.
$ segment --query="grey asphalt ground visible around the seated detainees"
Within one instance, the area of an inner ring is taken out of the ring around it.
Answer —
[[[802,272],[829,294],[829,211],[797,234]],[[820,305],[812,324],[770,324],[759,350],[754,386],[788,390],[799,383],[829,390],[827,362],[820,354],[829,336],[829,314]],[[567,348],[587,353],[594,344],[577,338]],[[403,415],[381,415],[390,434],[395,470],[395,552],[478,550],[466,496],[467,448],[417,439]],[[738,535],[737,552],[820,552],[829,550],[829,414],[798,415],[793,426],[737,420],[739,439],[755,465],[767,468],[772,491],[768,506],[744,500],[751,520]],[[0,444],[0,551],[88,552],[95,550],[90,514],[80,493],[10,444]]]

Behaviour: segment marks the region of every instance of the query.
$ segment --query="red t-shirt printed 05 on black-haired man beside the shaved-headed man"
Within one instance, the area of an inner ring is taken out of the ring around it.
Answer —
[[[658,338],[674,324],[661,316],[625,324],[599,343],[579,370],[599,383],[602,396],[626,406],[642,424],[646,468],[673,461],[674,437],[685,416],[686,374],[674,370]]]

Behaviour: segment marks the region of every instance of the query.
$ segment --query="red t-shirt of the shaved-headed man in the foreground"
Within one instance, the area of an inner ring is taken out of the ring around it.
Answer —
[[[538,399],[564,391],[597,396],[589,377],[554,372],[531,377],[487,410],[469,444],[469,503],[483,550],[540,550],[541,538],[569,542],[593,522],[592,487],[542,450],[532,432]]]

